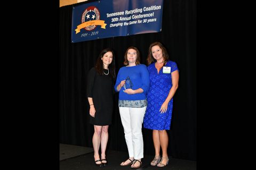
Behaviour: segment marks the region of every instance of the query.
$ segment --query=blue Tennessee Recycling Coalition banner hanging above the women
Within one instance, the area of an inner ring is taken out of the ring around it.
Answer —
[[[71,41],[162,30],[163,0],[102,0],[73,7]]]

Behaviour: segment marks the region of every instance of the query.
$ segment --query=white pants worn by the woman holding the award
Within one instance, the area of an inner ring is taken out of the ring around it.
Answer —
[[[119,107],[129,157],[143,158],[142,123],[146,108]]]

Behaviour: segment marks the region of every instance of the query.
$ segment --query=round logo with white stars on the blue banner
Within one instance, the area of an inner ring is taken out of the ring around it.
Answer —
[[[82,14],[82,23],[88,22],[92,20],[100,20],[100,12],[97,7],[95,6],[89,6],[86,8],[86,10]],[[87,31],[94,30],[97,27],[97,25],[89,25],[85,27],[84,29]]]

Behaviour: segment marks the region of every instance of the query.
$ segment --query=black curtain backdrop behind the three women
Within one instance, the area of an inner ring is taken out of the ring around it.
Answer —
[[[124,66],[127,47],[138,47],[141,63],[146,64],[149,45],[160,41],[166,46],[170,60],[177,63],[180,71],[179,88],[173,100],[171,130],[167,131],[167,151],[173,158],[196,160],[196,1],[164,0],[161,32],[79,43],[71,43],[73,5],[60,7],[59,12],[60,143],[92,147],[94,130],[89,123],[86,82],[87,73],[94,66],[101,50],[106,47],[114,48],[117,73]],[[109,126],[108,149],[127,152],[117,103],[118,94],[115,95],[113,123]],[[142,133],[144,154],[154,157],[152,131],[142,128]]]

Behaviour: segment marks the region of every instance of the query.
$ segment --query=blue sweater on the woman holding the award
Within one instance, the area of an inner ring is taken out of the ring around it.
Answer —
[[[126,80],[129,77],[133,84],[132,89],[137,90],[139,88],[143,89],[141,94],[129,95],[123,90],[124,87],[119,91],[119,100],[144,100],[146,99],[147,91],[149,90],[149,72],[147,66],[144,64],[139,64],[135,66],[124,66],[118,71],[115,90],[117,91],[118,84],[122,80]]]

